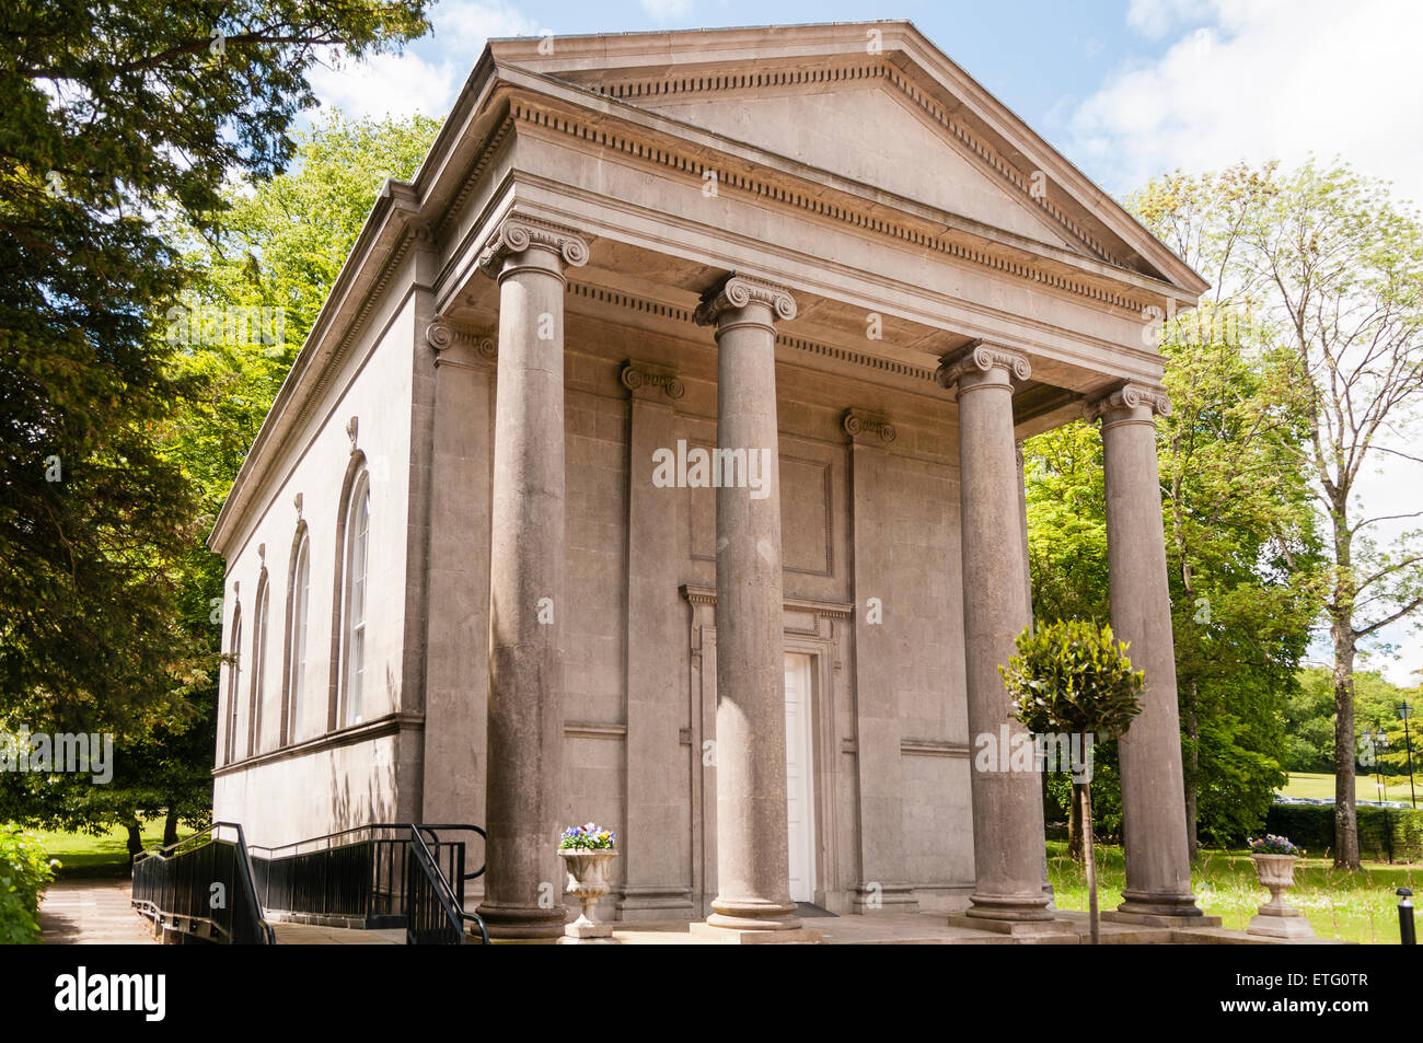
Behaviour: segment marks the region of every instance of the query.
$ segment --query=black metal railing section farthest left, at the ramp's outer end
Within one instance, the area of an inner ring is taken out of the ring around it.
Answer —
[[[155,923],[225,945],[275,945],[262,915],[242,827],[202,832],[134,859],[134,908]]]

